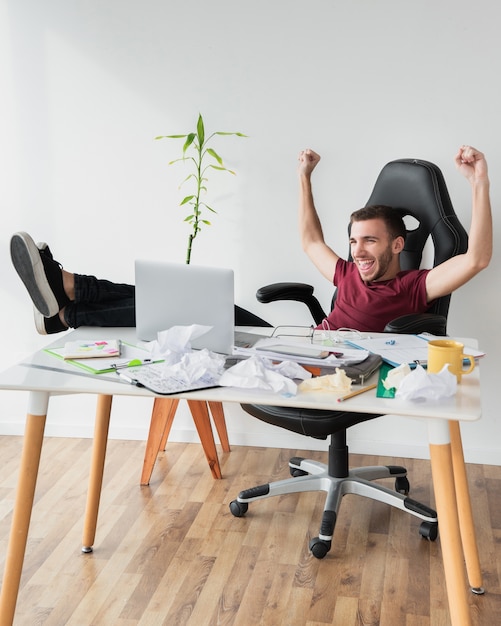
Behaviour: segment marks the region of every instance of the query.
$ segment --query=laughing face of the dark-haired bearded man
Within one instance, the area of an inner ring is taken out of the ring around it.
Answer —
[[[353,222],[351,225],[351,256],[364,282],[389,280],[400,271],[398,255],[403,239],[393,241],[381,219]]]

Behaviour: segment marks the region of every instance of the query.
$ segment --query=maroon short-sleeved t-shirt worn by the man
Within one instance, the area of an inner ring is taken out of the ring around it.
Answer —
[[[355,263],[339,259],[333,280],[336,303],[326,318],[329,328],[383,332],[396,317],[425,313],[430,306],[425,284],[429,271],[406,270],[391,280],[365,283]]]

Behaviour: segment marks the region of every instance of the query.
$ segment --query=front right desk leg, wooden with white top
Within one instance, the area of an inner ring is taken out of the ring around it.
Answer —
[[[452,626],[470,626],[448,422],[430,424],[430,458]],[[445,426],[445,430],[444,430]]]

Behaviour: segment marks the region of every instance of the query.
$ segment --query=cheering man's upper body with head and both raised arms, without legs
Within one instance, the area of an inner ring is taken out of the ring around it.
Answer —
[[[330,329],[382,332],[386,324],[410,313],[424,313],[433,300],[452,293],[482,269],[492,256],[489,178],[484,155],[461,146],[456,166],[472,188],[468,250],[431,270],[400,270],[405,226],[389,207],[366,207],[351,216],[353,263],[344,261],[324,240],[315,209],[311,174],[320,161],[313,150],[299,154],[299,230],[303,250],[337,287],[336,306],[326,318]]]

